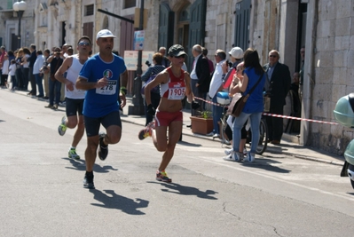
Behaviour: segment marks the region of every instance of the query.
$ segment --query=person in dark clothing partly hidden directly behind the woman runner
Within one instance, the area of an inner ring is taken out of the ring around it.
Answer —
[[[161,73],[164,69],[166,69],[165,66],[162,65],[162,59],[163,55],[160,52],[156,52],[153,54],[153,66],[150,66],[147,68],[146,73],[144,75],[141,75],[141,81],[143,83],[146,83],[146,81],[153,75],[158,75]],[[160,103],[160,85],[158,85],[155,89],[151,90],[150,92],[151,96],[151,104],[153,107],[156,109],[159,106]],[[149,122],[153,121],[153,115],[149,115],[147,113],[147,105],[146,105],[146,100],[144,99],[144,105],[146,108],[146,124],[149,124]]]

